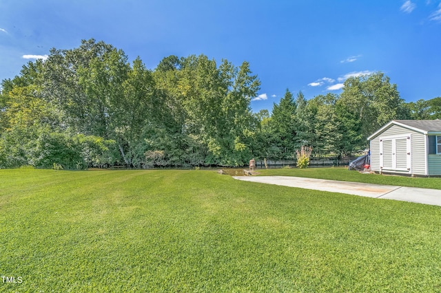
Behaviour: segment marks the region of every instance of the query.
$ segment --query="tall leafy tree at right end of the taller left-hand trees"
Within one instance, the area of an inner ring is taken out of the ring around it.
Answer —
[[[201,55],[178,62],[170,56],[160,65],[154,76],[174,120],[182,123],[181,147],[192,149],[193,158],[203,153],[205,164],[245,164],[257,124],[249,104],[260,85],[249,64],[234,67],[223,60],[218,66]]]

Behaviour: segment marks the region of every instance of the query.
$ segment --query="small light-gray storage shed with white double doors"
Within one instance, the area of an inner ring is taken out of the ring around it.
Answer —
[[[441,176],[441,120],[392,120],[367,140],[371,171]]]

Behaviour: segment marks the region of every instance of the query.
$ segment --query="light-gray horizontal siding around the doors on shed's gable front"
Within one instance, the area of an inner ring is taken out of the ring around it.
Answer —
[[[382,133],[371,140],[371,170],[380,172],[380,138],[391,138],[400,135],[411,135],[411,173],[416,175],[426,175],[426,149],[425,149],[425,135],[411,129],[400,127],[398,125],[391,125]],[[398,142],[398,147],[403,147]],[[383,144],[384,148],[384,144]],[[386,149],[383,149],[386,151]],[[389,154],[383,156],[383,164],[389,165]],[[397,157],[397,167],[406,165],[405,156]],[[402,173],[402,172],[400,172]]]

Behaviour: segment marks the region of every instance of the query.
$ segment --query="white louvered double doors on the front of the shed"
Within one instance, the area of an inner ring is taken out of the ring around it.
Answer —
[[[380,169],[411,171],[411,137],[380,139]]]

